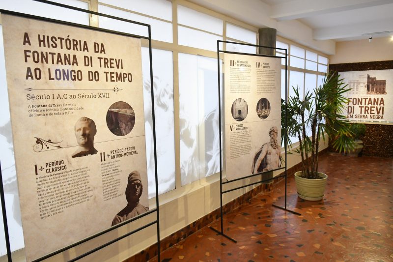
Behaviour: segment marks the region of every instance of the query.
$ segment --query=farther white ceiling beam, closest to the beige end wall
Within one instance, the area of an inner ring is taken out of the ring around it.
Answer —
[[[372,37],[372,33],[378,36],[380,32],[393,31],[393,19],[366,22],[340,27],[328,27],[313,29],[312,37],[314,40],[340,39],[348,37],[360,37],[362,34],[369,34],[365,37]]]

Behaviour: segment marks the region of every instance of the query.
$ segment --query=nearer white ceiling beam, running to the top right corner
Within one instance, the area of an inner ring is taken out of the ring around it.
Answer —
[[[293,0],[272,5],[270,18],[277,21],[293,20],[389,3],[392,0]]]

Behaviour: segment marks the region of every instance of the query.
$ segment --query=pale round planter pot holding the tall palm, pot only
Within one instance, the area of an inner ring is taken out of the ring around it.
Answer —
[[[321,200],[324,196],[323,193],[325,192],[328,176],[318,172],[321,179],[308,179],[300,177],[300,175],[302,175],[302,171],[295,173],[295,182],[299,198],[310,201]]]

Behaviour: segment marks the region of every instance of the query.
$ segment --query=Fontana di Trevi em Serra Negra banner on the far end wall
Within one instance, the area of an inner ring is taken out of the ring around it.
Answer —
[[[352,121],[393,122],[393,70],[339,72],[351,88],[343,115]]]

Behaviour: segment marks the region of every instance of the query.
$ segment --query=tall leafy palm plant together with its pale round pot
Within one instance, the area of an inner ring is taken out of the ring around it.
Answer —
[[[325,136],[334,138],[333,147],[339,152],[353,148],[353,133],[341,115],[348,104],[343,95],[349,91],[337,74],[325,75],[323,85],[299,95],[299,87],[292,87],[294,95],[287,102],[281,100],[281,141],[301,156],[302,170],[295,173],[298,196],[317,201],[324,196],[328,176],[318,172],[319,142]],[[286,116],[286,117],[285,117]],[[292,144],[296,139],[296,144]]]

